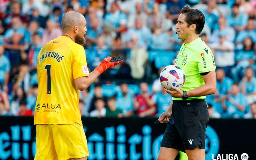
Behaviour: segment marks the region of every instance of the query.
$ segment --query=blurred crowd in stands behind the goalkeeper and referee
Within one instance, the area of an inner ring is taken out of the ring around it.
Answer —
[[[80,92],[82,116],[159,116],[171,96],[158,80],[183,43],[174,25],[184,6],[205,15],[201,33],[216,62],[212,118],[256,118],[256,0],[0,0],[0,115],[32,116],[37,55],[62,34],[65,12],[87,21],[84,49],[92,71],[106,56],[124,58]]]

